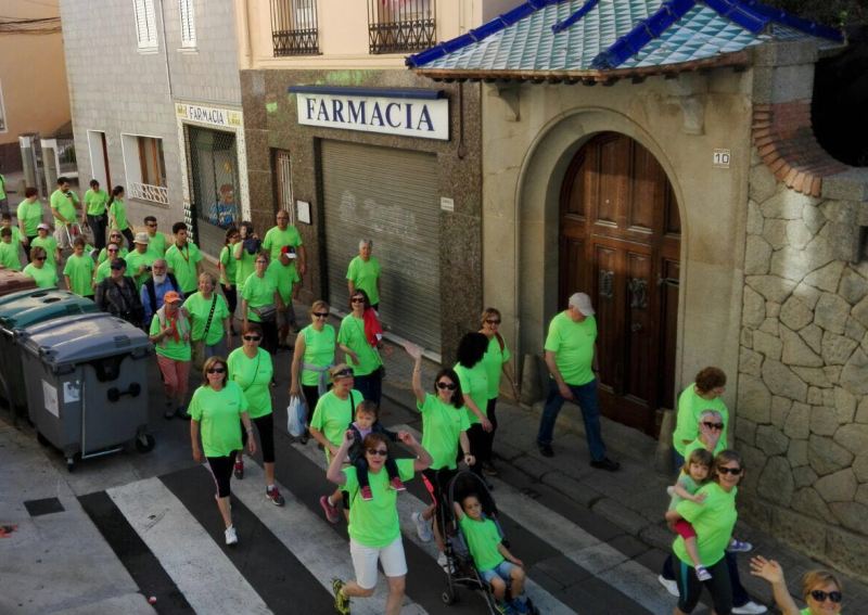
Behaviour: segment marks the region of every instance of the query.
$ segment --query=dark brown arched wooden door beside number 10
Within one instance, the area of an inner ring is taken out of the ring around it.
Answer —
[[[663,167],[615,132],[593,137],[561,189],[560,306],[576,292],[597,310],[603,414],[656,436],[674,407],[678,204]]]

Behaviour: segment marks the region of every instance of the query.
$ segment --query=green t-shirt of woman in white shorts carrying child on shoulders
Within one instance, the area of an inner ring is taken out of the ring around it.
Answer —
[[[401,481],[413,477],[412,459],[396,460],[398,475]],[[359,479],[355,466],[343,470],[346,483],[343,490],[349,494],[349,537],[373,549],[382,549],[392,544],[400,537],[400,523],[398,521],[397,497],[398,492],[388,486],[388,473],[385,467],[379,472],[368,472],[371,486],[371,500],[362,500],[356,496],[359,492]]]

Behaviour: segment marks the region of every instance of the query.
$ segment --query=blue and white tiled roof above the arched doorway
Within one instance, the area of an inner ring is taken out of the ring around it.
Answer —
[[[709,61],[775,40],[841,41],[838,30],[755,0],[528,0],[407,57],[442,72],[586,72]]]

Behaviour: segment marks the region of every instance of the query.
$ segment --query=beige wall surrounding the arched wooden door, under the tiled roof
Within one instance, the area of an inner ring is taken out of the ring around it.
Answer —
[[[735,400],[750,168],[750,78],[622,80],[611,87],[483,87],[483,296],[505,333],[539,355],[558,306],[558,207],[572,156],[612,130],[644,145],[666,170],[681,217],[676,388],[706,364],[730,375]],[[728,169],[713,150],[731,151]],[[576,289],[580,290],[580,289]]]

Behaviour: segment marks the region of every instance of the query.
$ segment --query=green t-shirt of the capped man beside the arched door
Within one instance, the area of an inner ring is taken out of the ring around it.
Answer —
[[[551,319],[546,336],[546,350],[556,353],[554,363],[566,384],[582,386],[593,380],[593,344],[597,341],[597,320],[586,316],[574,322],[562,311]]]

